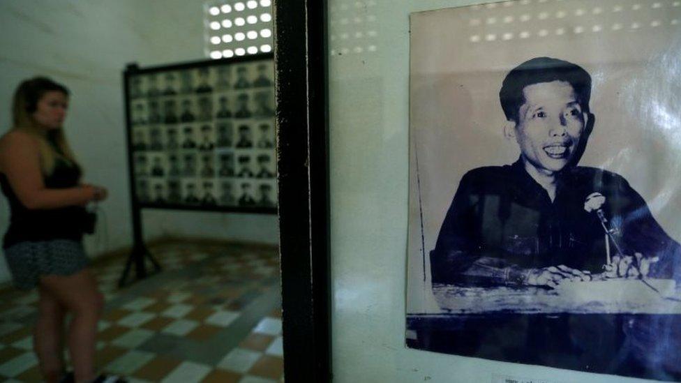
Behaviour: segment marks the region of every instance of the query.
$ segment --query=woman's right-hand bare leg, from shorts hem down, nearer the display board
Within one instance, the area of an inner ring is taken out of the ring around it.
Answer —
[[[72,276],[42,276],[40,284],[73,313],[68,327],[68,350],[75,381],[90,382],[95,378],[97,322],[104,306],[95,278],[84,269]]]

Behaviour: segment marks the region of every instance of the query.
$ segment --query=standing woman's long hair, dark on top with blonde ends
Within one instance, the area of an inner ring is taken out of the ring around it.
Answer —
[[[33,119],[38,108],[38,101],[49,91],[59,91],[68,96],[68,89],[47,77],[33,77],[24,80],[14,93],[12,105],[13,129],[29,133],[38,140],[40,153],[40,169],[45,176],[54,172],[57,159],[65,160],[80,169],[73,151],[66,141],[63,128],[45,130]]]

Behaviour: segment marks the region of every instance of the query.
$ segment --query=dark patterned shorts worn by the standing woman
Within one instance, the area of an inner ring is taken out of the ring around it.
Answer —
[[[15,287],[30,290],[40,276],[70,276],[89,263],[83,245],[70,239],[26,241],[5,249]]]

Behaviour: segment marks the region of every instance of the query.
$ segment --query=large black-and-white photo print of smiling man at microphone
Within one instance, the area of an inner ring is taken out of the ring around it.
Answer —
[[[679,16],[411,15],[407,347],[681,380]]]

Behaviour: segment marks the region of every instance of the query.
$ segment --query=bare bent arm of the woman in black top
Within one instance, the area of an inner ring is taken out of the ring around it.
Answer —
[[[92,186],[45,188],[40,172],[38,142],[24,132],[11,131],[0,140],[0,170],[27,209],[84,205],[96,195],[96,189]]]

